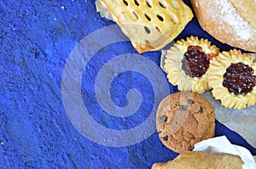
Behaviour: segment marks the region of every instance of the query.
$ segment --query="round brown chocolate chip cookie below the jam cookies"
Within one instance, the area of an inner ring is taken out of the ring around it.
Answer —
[[[156,127],[167,148],[178,153],[192,150],[196,143],[214,136],[215,110],[197,93],[173,93],[160,102]]]

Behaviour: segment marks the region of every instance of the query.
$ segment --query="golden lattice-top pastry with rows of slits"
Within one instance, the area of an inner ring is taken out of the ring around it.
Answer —
[[[139,53],[164,48],[193,18],[181,0],[97,0],[96,7],[119,25]]]

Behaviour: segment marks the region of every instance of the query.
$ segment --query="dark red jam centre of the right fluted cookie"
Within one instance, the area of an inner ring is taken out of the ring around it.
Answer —
[[[256,78],[253,73],[253,68],[249,65],[241,62],[231,64],[224,74],[223,86],[227,87],[230,93],[236,95],[250,93],[256,85]]]

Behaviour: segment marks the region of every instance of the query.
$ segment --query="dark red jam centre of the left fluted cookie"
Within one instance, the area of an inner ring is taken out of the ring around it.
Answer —
[[[209,68],[212,54],[205,54],[200,46],[189,46],[183,55],[182,69],[190,77],[201,77]]]

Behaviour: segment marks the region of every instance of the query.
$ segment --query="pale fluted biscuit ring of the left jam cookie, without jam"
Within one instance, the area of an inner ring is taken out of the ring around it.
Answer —
[[[182,69],[183,55],[187,52],[189,46],[199,46],[205,54],[212,54],[213,57],[219,54],[219,48],[211,45],[211,42],[207,39],[188,37],[186,41],[183,39],[177,41],[172,48],[163,51],[166,56],[164,69],[169,82],[172,85],[177,85],[178,90],[204,93],[206,90],[211,89],[207,82],[208,70],[201,77],[191,77],[186,75]]]

